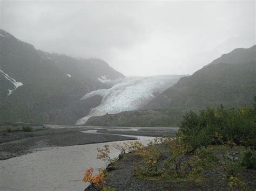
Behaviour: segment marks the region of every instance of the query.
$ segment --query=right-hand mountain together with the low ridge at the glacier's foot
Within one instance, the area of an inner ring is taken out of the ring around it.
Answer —
[[[158,94],[143,110],[90,117],[86,125],[177,126],[188,110],[239,107],[256,95],[256,46],[237,48]]]

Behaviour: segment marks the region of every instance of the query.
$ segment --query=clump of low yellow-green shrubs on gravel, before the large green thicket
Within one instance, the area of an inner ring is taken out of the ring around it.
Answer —
[[[201,178],[205,169],[214,167],[218,162],[215,154],[208,148],[199,147],[191,153],[190,145],[180,144],[177,140],[161,142],[163,144],[156,145],[159,142],[155,140],[146,150],[138,152],[143,160],[133,168],[134,175],[139,178],[157,176],[165,180],[196,181]],[[163,146],[169,148],[166,153],[168,157],[164,154],[166,151]]]

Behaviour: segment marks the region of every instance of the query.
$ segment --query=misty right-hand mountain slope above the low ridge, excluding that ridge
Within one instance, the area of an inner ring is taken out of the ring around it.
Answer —
[[[224,104],[238,107],[256,95],[256,46],[222,55],[153,98],[146,109],[200,109]]]

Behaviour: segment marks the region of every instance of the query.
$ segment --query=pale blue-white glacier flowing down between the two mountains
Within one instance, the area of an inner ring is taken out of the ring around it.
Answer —
[[[117,114],[122,111],[143,108],[153,97],[154,93],[161,93],[175,84],[181,75],[160,75],[150,77],[126,77],[116,81],[104,81],[112,85],[110,89],[99,89],[87,93],[81,98],[100,95],[102,103],[91,109],[89,115],[80,118],[76,125],[83,125],[92,116]]]

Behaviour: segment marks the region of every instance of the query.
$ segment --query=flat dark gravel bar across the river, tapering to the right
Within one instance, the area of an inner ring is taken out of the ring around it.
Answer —
[[[79,129],[35,128],[32,132],[0,129],[0,160],[35,152],[43,147],[84,145],[130,140],[132,137],[84,133]]]

